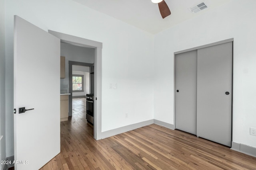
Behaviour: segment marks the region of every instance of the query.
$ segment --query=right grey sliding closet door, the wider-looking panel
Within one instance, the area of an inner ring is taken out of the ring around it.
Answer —
[[[198,137],[231,147],[232,42],[198,49]]]

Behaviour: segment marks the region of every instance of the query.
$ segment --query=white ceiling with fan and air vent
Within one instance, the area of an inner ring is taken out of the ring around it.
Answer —
[[[165,0],[171,15],[162,19],[158,4],[151,0],[73,0],[96,11],[134,25],[150,33],[158,33],[182,21],[214,10],[230,0]],[[188,8],[204,2],[208,8],[196,14]]]

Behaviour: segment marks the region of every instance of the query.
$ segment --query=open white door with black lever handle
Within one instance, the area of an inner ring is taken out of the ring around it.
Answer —
[[[14,108],[15,169],[37,170],[60,152],[60,39],[18,16]]]

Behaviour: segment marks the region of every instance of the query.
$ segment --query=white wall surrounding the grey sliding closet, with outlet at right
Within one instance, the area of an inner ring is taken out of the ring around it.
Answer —
[[[174,123],[174,52],[234,38],[233,141],[256,147],[256,1],[228,4],[155,37],[154,118]]]

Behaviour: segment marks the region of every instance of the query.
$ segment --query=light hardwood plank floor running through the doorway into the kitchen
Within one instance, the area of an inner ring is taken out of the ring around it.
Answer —
[[[155,124],[98,141],[82,113],[60,127],[61,152],[41,170],[256,170],[255,157]]]

